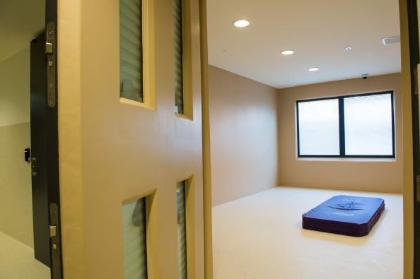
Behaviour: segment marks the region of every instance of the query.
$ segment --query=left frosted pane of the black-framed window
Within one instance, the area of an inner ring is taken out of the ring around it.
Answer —
[[[300,155],[339,155],[339,102],[298,102]]]

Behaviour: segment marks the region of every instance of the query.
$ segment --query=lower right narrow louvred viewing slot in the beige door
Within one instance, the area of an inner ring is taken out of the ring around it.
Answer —
[[[187,279],[186,182],[177,183],[178,279]]]

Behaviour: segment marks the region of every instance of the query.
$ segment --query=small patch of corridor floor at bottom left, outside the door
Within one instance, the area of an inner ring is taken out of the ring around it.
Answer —
[[[49,279],[49,268],[33,257],[33,248],[0,232],[0,279]]]

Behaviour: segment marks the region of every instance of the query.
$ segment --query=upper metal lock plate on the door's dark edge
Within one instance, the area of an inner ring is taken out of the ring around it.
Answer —
[[[57,71],[55,61],[57,61],[57,44],[55,23],[49,22],[45,35],[45,54],[47,55],[47,105],[55,107],[57,105]]]

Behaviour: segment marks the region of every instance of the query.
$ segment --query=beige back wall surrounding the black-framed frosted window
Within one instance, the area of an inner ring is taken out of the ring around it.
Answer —
[[[372,76],[279,90],[279,184],[323,189],[402,193],[401,75]],[[296,100],[394,90],[396,159],[298,159]]]

